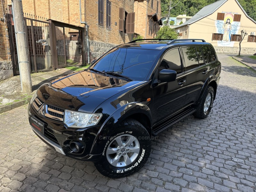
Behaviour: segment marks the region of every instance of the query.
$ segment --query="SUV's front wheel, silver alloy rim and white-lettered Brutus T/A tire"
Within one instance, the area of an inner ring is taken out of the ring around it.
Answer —
[[[134,141],[130,145],[120,145],[121,143],[125,144],[125,142],[131,138],[134,139]],[[120,140],[121,143],[118,144],[117,141],[120,142]],[[137,148],[138,146],[140,149]],[[128,148],[130,148],[129,150],[136,148],[136,152],[127,152],[125,154],[125,151]],[[109,149],[114,149],[113,151],[119,150],[119,152],[107,154]],[[121,178],[137,172],[147,162],[150,151],[151,139],[148,131],[138,121],[134,119],[126,119],[117,125],[115,131],[104,147],[100,161],[95,162],[94,164],[102,175],[109,178]],[[121,153],[122,155],[119,157]],[[115,164],[114,162],[118,162],[117,165],[114,166],[111,164],[111,160],[116,157],[119,157],[119,159],[112,162],[112,164]],[[132,163],[128,164],[128,162],[126,165],[127,157],[129,157]]]

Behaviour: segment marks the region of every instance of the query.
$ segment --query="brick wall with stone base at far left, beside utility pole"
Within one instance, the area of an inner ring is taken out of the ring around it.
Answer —
[[[4,19],[0,21],[0,80],[13,76],[5,7],[6,3],[3,0],[0,2],[0,18]]]

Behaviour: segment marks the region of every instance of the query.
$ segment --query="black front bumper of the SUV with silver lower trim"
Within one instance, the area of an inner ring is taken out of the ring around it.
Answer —
[[[92,143],[100,129],[100,125],[84,129],[68,128],[65,124],[63,124],[62,121],[50,119],[45,117],[43,114],[38,113],[34,107],[29,104],[28,118],[31,118],[31,116],[36,117],[44,123],[44,134],[38,132],[33,126],[31,126],[31,129],[42,141],[44,141],[50,147],[54,148],[60,154],[84,161],[95,162],[100,160],[101,154],[90,154]],[[83,143],[83,151],[74,153],[69,145],[72,141],[79,141]]]

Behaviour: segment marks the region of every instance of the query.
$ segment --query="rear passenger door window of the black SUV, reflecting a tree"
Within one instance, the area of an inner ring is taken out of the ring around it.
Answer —
[[[199,66],[196,47],[182,47],[186,71]]]

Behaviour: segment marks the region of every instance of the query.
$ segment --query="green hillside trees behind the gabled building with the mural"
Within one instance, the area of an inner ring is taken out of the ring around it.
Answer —
[[[204,6],[212,4],[218,0],[172,0],[173,7],[170,12],[170,17],[177,17],[178,15],[186,14],[187,16],[194,16]],[[256,20],[256,0],[238,0],[245,12]],[[161,15],[162,17],[168,15],[170,0],[161,0]]]

